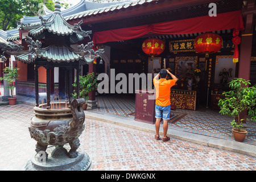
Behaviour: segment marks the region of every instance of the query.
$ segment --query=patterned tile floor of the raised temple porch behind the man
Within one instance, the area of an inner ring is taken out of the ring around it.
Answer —
[[[135,97],[134,96],[98,96],[98,107],[90,110],[95,113],[104,113],[114,117],[134,119]],[[176,130],[187,131],[209,137],[234,140],[232,135],[231,117],[221,115],[218,110],[200,107],[196,111],[176,109],[174,114],[185,114],[184,117],[168,127]],[[245,143],[256,146],[256,122],[246,122],[247,136]]]

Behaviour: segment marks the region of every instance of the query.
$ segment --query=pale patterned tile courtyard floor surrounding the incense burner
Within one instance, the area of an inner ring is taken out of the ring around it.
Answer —
[[[0,106],[0,170],[23,170],[35,153],[28,125],[33,106]],[[86,119],[81,148],[92,159],[91,170],[256,170],[256,158]]]

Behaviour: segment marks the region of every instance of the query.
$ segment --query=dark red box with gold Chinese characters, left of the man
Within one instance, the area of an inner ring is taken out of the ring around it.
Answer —
[[[154,90],[135,90],[135,121],[155,124]]]

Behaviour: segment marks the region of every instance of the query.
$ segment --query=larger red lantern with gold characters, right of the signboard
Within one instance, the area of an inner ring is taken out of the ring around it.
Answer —
[[[197,52],[205,53],[205,57],[209,57],[209,53],[220,51],[223,40],[220,35],[214,33],[205,33],[197,36],[194,40],[194,47]]]

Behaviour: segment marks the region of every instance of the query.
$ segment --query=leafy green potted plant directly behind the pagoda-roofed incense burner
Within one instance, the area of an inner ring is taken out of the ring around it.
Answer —
[[[76,98],[76,78],[73,84],[75,90],[73,90],[73,98]],[[85,101],[89,100],[88,93],[95,90],[97,88],[97,76],[94,73],[88,73],[87,75],[84,76],[79,76],[79,97],[84,98]],[[82,106],[83,110],[86,110],[87,103],[85,103]]]

